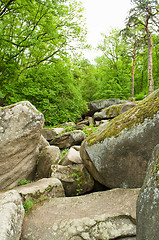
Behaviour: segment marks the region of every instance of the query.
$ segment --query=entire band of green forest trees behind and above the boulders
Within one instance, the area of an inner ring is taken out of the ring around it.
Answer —
[[[28,100],[56,125],[76,121],[88,101],[159,88],[158,1],[131,2],[125,28],[102,35],[91,63],[80,1],[0,1],[0,106]]]

